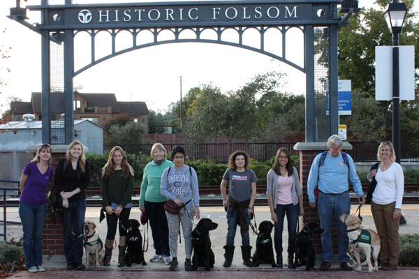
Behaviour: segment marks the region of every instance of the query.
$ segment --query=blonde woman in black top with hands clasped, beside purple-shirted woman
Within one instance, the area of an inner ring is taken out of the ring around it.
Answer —
[[[84,157],[83,145],[79,141],[71,142],[66,157],[59,160],[55,171],[58,202],[63,206],[61,223],[64,228],[66,269],[69,270],[85,268],[82,264],[83,223],[86,213],[86,188],[89,187],[89,183],[90,163]]]

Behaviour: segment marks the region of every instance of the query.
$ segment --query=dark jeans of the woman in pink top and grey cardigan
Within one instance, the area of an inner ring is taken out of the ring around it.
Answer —
[[[274,223],[274,242],[277,256],[282,255],[282,231],[284,229],[285,214],[286,220],[288,221],[288,254],[294,254],[298,213],[300,213],[300,206],[298,204],[277,204],[275,214],[277,214],[278,223]]]

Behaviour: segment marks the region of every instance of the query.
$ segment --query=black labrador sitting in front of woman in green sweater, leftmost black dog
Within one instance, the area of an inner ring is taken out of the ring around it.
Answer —
[[[128,220],[126,228],[128,234],[126,235],[126,266],[132,266],[132,263],[147,265],[144,259],[144,251],[142,250],[142,236],[140,232],[140,223],[138,220]]]

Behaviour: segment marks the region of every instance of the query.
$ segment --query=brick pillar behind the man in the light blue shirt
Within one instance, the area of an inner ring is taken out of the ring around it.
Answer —
[[[314,158],[323,151],[328,150],[326,142],[298,142],[294,149],[300,153],[300,183],[302,186],[302,204],[304,206],[304,224],[314,222],[320,225],[317,208],[314,209],[309,205],[309,194],[307,193],[307,180],[309,179],[309,172]],[[352,149],[351,144],[344,142],[343,150]],[[333,254],[337,255],[337,229],[335,224],[332,228]],[[311,236],[311,243],[313,243],[314,252],[320,255],[323,252],[321,247],[321,235],[313,234]]]

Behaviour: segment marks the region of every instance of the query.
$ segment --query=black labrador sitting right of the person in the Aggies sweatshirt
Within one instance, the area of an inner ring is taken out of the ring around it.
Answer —
[[[198,269],[198,266],[205,267],[209,271],[214,267],[215,257],[211,249],[210,231],[218,227],[217,223],[209,218],[203,218],[198,222],[196,228],[192,231],[192,270]]]

